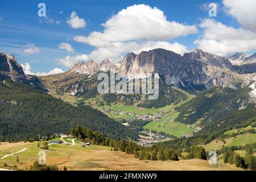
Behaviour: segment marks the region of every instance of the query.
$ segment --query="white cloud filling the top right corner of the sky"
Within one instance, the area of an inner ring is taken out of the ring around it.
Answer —
[[[255,0],[223,0],[225,11],[237,19],[246,30],[256,31]]]

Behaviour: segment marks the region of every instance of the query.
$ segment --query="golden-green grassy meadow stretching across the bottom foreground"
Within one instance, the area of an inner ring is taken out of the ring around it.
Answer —
[[[42,143],[42,142],[41,142]],[[3,163],[10,166],[18,166],[19,169],[26,169],[38,158],[37,148],[34,143],[13,143],[1,144],[0,156],[27,148],[26,151],[18,154],[19,163],[16,162],[16,155],[0,159],[0,168]],[[55,164],[60,169],[64,166],[68,170],[217,170],[217,165],[210,165],[206,160],[191,159],[178,162],[146,161],[138,160],[133,155],[124,152],[110,151],[110,147],[90,146],[81,148],[80,144],[64,146],[52,144],[46,152],[47,164]],[[229,164],[222,165],[222,170],[242,170]]]

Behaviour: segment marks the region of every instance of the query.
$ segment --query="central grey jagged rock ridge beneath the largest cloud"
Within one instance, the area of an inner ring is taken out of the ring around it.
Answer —
[[[229,59],[200,49],[185,53],[183,56],[160,48],[143,51],[138,55],[131,52],[118,64],[106,61],[98,65],[90,60],[87,63],[76,64],[71,72],[92,75],[110,69],[125,74],[159,73],[165,84],[188,90],[209,89],[213,86],[234,87],[235,82],[244,81]]]

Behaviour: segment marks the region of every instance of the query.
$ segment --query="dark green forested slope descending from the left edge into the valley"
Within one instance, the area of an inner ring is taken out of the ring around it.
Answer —
[[[75,126],[88,127],[110,138],[137,136],[137,131],[89,106],[74,107],[18,81],[0,81],[0,140],[67,133]]]

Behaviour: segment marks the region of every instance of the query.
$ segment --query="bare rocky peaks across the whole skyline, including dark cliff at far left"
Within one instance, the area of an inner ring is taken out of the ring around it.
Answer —
[[[184,53],[183,56],[167,51],[153,49],[136,55],[127,53],[119,63],[109,59],[97,64],[93,60],[86,63],[80,61],[66,73],[92,76],[98,72],[114,70],[118,73],[159,73],[164,84],[184,90],[200,91],[213,86],[228,86],[237,88],[239,84],[249,84],[254,81],[256,73],[256,53],[245,55],[235,53],[229,57],[221,57],[207,53],[201,49]],[[37,88],[42,87],[36,76],[25,75],[22,67],[13,55],[0,53],[0,76],[10,77]],[[77,88],[77,86],[75,86]],[[79,88],[78,88],[79,89]],[[74,90],[75,91],[75,90]],[[75,93],[74,93],[75,94]]]

